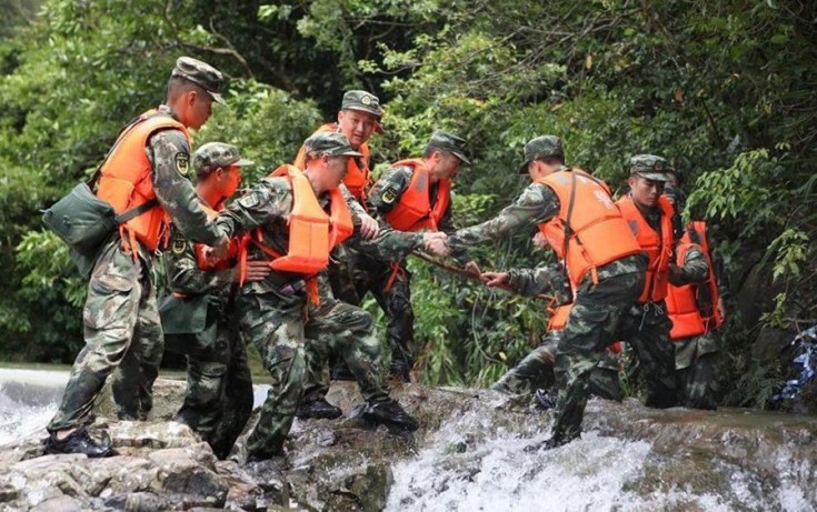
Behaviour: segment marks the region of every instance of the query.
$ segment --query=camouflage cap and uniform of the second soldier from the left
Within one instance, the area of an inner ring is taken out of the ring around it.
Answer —
[[[239,158],[235,147],[220,142],[202,145],[193,157],[199,177],[217,168],[250,163]],[[173,329],[166,324],[168,317],[162,317],[166,332],[172,329],[187,343],[180,350],[187,354],[187,391],[177,420],[192,428],[217,456],[225,459],[247,424],[253,402],[247,350],[233,314],[238,284],[233,282],[232,268],[201,270],[195,243],[176,228],[162,260],[169,290],[181,297],[182,302],[200,304],[198,308],[203,309],[201,314],[206,319],[200,328],[173,325]],[[166,304],[179,303],[175,297],[166,299]]]

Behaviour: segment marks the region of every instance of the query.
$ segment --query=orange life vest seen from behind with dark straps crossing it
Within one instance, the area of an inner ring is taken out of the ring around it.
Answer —
[[[574,289],[587,272],[597,281],[599,267],[641,252],[602,181],[574,169],[536,182],[550,187],[559,198],[558,215],[539,224],[539,230],[565,261]]]

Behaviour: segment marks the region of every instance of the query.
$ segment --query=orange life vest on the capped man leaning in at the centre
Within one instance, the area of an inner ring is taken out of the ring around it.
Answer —
[[[400,160],[391,165],[411,168],[411,182],[402,192],[400,201],[383,217],[386,221],[398,231],[419,231],[421,229],[430,231],[439,231],[439,224],[442,215],[448,209],[451,199],[450,180],[440,180],[437,183],[437,200],[431,208],[431,197],[429,188],[431,185],[426,162],[422,159],[414,158]]]

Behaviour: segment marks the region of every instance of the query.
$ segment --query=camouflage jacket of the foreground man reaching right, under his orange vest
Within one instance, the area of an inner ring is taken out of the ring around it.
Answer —
[[[287,215],[292,210],[292,191],[285,178],[265,178],[249,192],[219,213],[217,224],[228,235],[233,237],[260,228],[263,241],[276,251],[285,253],[289,247]],[[323,208],[329,207],[329,197],[319,198]],[[345,242],[352,249],[385,261],[399,261],[410,251],[422,244],[422,233],[403,233],[392,229],[381,229],[373,240],[359,235],[360,217],[351,210],[355,232]],[[255,244],[248,245],[248,258],[267,260],[269,257]],[[301,279],[302,275],[273,271],[265,281],[245,284],[242,291],[266,293],[281,288],[281,284]]]

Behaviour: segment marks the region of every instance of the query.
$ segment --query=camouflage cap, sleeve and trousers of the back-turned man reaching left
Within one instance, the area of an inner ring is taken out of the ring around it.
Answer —
[[[526,162],[520,172],[534,160],[544,157],[564,159],[561,141],[542,135],[525,145]],[[542,183],[531,183],[514,204],[481,224],[457,231],[449,238],[456,245],[472,245],[488,240],[509,237],[527,225],[549,221],[559,213],[556,192]],[[629,311],[644,288],[647,259],[641,254],[625,257],[597,269],[598,282],[588,272],[576,290],[568,322],[562,331],[556,354],[556,380],[559,396],[556,408],[554,435],[549,443],[558,445],[577,438],[587,404],[589,378],[602,357],[604,350],[616,340],[634,344],[639,360],[647,369],[647,404],[671,406],[676,403],[677,384],[669,341],[650,345],[641,335],[638,323],[630,321]],[[666,313],[665,324],[668,327]],[[645,318],[645,323],[647,319]],[[668,332],[668,330],[667,330]]]

